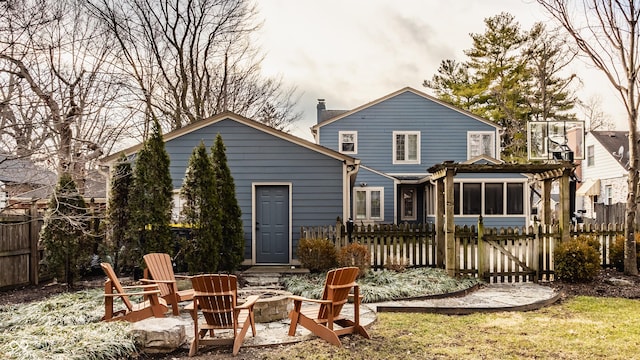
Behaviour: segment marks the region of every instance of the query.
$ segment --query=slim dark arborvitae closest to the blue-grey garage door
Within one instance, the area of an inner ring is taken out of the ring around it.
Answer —
[[[216,136],[212,149],[213,167],[218,180],[218,196],[222,210],[222,256],[220,270],[232,272],[244,259],[244,233],[242,212],[236,199],[236,186],[227,165],[227,155],[222,136]]]

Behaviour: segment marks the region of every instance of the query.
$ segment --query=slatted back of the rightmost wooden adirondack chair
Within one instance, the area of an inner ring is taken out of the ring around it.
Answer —
[[[322,292],[322,300],[331,300],[333,303],[333,317],[338,317],[342,307],[349,300],[349,293],[356,285],[356,278],[360,270],[357,267],[345,267],[334,269],[327,273]],[[318,319],[328,318],[328,306],[321,305]]]

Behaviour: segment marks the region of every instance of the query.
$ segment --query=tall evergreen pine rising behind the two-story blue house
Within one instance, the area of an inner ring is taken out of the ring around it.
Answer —
[[[502,156],[526,159],[526,122],[570,119],[574,79],[559,72],[573,58],[542,24],[522,31],[508,13],[485,19],[486,31],[471,34],[468,60],[442,61],[424,86],[436,96],[492,120],[504,129]]]

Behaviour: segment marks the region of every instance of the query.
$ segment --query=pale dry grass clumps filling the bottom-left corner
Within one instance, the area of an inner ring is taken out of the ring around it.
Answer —
[[[103,291],[0,306],[2,359],[123,359],[136,353],[126,323],[100,322]]]

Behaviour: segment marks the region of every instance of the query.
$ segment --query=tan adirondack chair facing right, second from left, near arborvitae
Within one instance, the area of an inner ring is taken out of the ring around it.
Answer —
[[[175,275],[169,254],[152,253],[144,257],[147,268],[144,269],[144,279],[142,281],[153,282],[160,287],[160,296],[171,305],[173,315],[178,316],[180,310],[178,303],[193,299],[193,289],[178,290],[176,279],[188,276]]]

